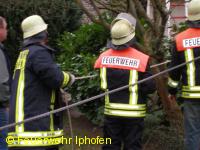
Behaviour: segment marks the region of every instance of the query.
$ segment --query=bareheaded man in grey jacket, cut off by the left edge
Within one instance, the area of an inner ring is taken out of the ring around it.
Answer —
[[[7,39],[7,22],[0,16],[0,127],[8,124],[11,67],[3,42]],[[0,131],[0,149],[7,150],[7,129]]]

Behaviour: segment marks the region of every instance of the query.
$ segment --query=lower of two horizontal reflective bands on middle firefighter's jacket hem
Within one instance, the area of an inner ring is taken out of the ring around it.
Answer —
[[[122,117],[145,117],[146,111],[122,111],[122,110],[110,110],[106,109],[104,111],[106,115],[112,116],[122,116]]]

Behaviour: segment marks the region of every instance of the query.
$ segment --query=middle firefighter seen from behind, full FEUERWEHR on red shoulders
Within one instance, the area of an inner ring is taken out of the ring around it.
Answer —
[[[151,76],[149,56],[134,48],[136,20],[120,13],[111,23],[108,49],[96,60],[100,69],[101,88],[110,91]],[[141,150],[146,115],[146,96],[155,91],[155,81],[130,86],[105,96],[104,137],[111,138],[103,150]]]

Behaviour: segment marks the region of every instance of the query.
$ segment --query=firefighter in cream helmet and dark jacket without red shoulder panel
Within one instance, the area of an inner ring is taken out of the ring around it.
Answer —
[[[71,85],[74,76],[53,61],[55,50],[48,47],[47,24],[38,15],[23,20],[23,47],[17,59],[10,100],[10,123],[52,111],[60,106],[61,87]],[[11,128],[9,149],[58,150],[63,136],[60,114],[51,114]]]

